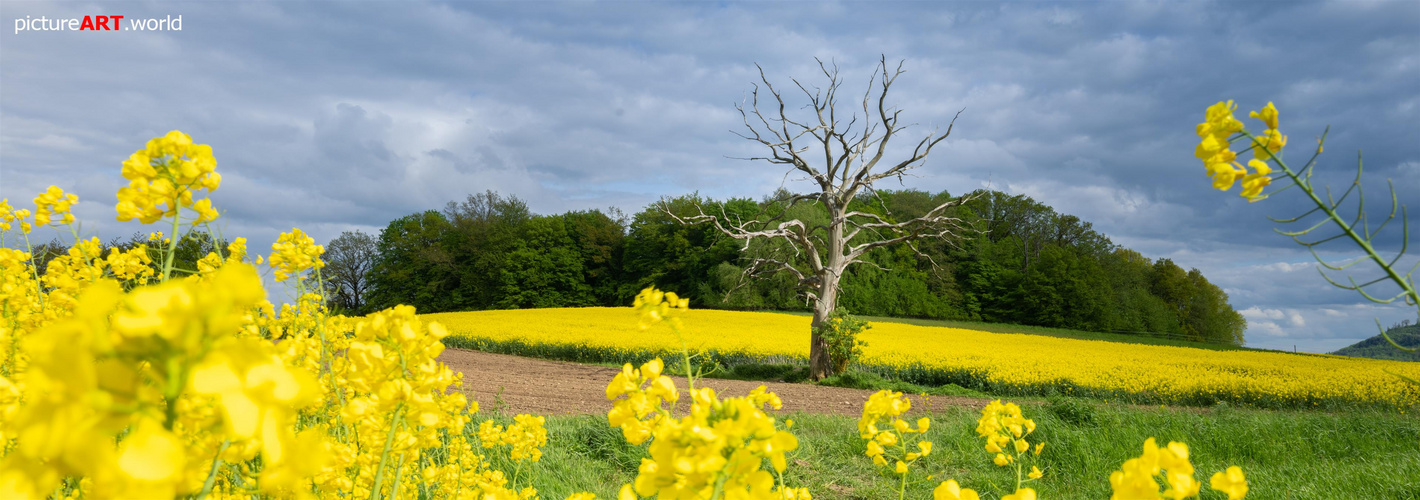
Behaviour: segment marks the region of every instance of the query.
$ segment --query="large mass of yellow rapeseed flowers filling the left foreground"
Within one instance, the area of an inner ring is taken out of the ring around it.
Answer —
[[[189,202],[216,188],[214,165],[180,132],[153,139],[125,162],[121,217],[172,216],[176,232],[176,209],[193,206],[193,226],[209,220],[210,205]],[[37,199],[65,223],[72,202],[58,189]],[[30,229],[27,210],[0,210],[4,232]],[[542,418],[520,415],[480,442],[477,403],[436,359],[443,327],[410,307],[332,317],[318,293],[277,308],[244,239],[169,280],[166,243],[163,273],[146,246],[102,257],[97,239],[75,241],[43,274],[30,251],[0,247],[0,497],[538,496],[479,450],[538,462]],[[278,268],[318,268],[304,233],[281,243]]]

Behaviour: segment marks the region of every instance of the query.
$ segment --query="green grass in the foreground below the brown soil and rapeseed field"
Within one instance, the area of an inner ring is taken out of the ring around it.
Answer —
[[[1203,499],[1223,499],[1208,477],[1241,466],[1248,499],[1420,499],[1420,420],[1390,412],[1277,412],[1235,408],[1136,408],[1083,399],[1028,401],[1044,440],[1045,479],[1031,484],[1042,499],[1109,497],[1109,473],[1140,453],[1146,438],[1189,443]],[[790,460],[790,486],[809,486],[815,499],[895,499],[897,480],[863,456],[855,420],[808,413],[792,418],[799,449]],[[990,463],[976,436],[976,409],[934,409],[927,439],[936,447],[914,469],[909,499],[930,499],[932,487],[956,479],[998,499],[993,484],[1014,486],[1007,469]],[[550,445],[535,486],[544,499],[588,490],[615,499],[645,452],[626,445],[605,416],[548,419]],[[924,477],[933,474],[933,480]],[[1010,491],[1005,491],[1010,493]]]

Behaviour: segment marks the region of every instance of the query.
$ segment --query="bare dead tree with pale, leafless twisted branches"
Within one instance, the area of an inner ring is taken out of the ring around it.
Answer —
[[[721,233],[743,240],[746,250],[754,240],[781,241],[787,246],[788,251],[780,254],[750,257],[741,281],[744,277],[770,273],[788,273],[798,280],[801,291],[814,304],[815,332],[809,345],[809,366],[815,379],[826,376],[831,366],[828,345],[816,328],[834,312],[839,280],[849,266],[868,263],[863,260],[868,251],[897,243],[910,246],[920,257],[927,257],[914,241],[939,239],[954,244],[963,233],[971,230],[950,210],[966,203],[967,197],[949,200],[920,217],[899,222],[888,212],[886,203],[882,203],[882,197],[873,189],[878,180],[897,178],[900,182],[909,170],[922,166],[932,149],[951,134],[956,116],[951,118],[946,132],[933,131],[917,141],[906,158],[897,162],[883,161],[889,153],[889,142],[909,126],[899,122],[902,111],[888,105],[888,92],[903,74],[902,62],[889,72],[886,57],[879,60],[863,92],[862,121],[855,109],[846,122],[838,109],[838,92],[843,82],[838,75],[838,67],[824,64],[822,60],[818,65],[828,78],[826,88],[811,89],[794,80],[794,85],[809,101],[809,105],[804,107],[805,118],[790,116],[784,97],[770,84],[764,68],[758,65],[755,67],[760,68],[763,91],[767,91],[772,101],[765,99],[761,108],[761,87],[754,84],[748,109],[744,104],[736,107],[747,129],[736,134],[768,149],[767,156],[747,159],[785,166],[788,169],[785,179],[795,173],[807,175],[805,180],[812,180],[816,189],[784,195],[780,200],[782,210],[778,214],[768,217],[761,214],[753,220],[731,220],[724,213],[707,214],[704,210],[682,217],[663,206],[666,213],[683,224],[714,224]],[[958,111],[957,115],[960,114]],[[882,203],[886,216],[851,209],[849,205],[861,195],[872,196]],[[797,203],[822,206],[828,213],[828,223],[788,219],[788,207]]]

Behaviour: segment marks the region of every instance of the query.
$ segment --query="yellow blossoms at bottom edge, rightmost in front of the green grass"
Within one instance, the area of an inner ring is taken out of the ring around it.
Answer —
[[[1160,479],[1163,493],[1159,491]],[[1143,455],[1126,460],[1120,470],[1109,474],[1109,486],[1115,491],[1110,500],[1183,500],[1198,496],[1201,487],[1193,479],[1189,445],[1170,442],[1169,446],[1159,447],[1153,438],[1145,440]],[[1237,466],[1213,474],[1211,487],[1227,493],[1228,500],[1247,496],[1247,479]]]

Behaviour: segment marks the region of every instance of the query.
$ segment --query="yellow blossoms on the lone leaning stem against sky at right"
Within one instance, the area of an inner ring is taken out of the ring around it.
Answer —
[[[1247,163],[1252,168],[1252,173],[1248,173],[1247,168],[1237,162],[1237,153],[1230,148],[1234,135],[1247,134],[1242,122],[1233,118],[1234,109],[1237,107],[1233,101],[1208,107],[1204,114],[1206,121],[1197,126],[1201,141],[1194,148],[1193,155],[1203,161],[1208,176],[1213,178],[1213,188],[1228,190],[1234,182],[1242,180],[1242,197],[1255,202],[1262,199],[1262,189],[1272,182],[1272,168],[1267,165],[1267,161],[1287,145],[1287,136],[1277,131],[1277,107],[1271,102],[1262,111],[1251,112],[1252,118],[1267,124],[1267,131],[1261,136],[1252,136],[1255,158]]]

